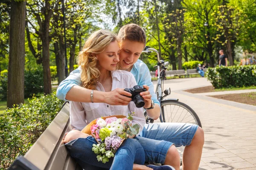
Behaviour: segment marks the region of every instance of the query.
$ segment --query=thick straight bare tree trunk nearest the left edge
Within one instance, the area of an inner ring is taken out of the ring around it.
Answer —
[[[26,2],[11,1],[7,108],[24,103]]]

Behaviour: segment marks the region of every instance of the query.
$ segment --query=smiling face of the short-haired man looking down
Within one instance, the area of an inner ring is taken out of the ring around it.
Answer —
[[[124,40],[120,51],[119,64],[123,70],[131,71],[132,66],[140,57],[144,48],[141,42]]]

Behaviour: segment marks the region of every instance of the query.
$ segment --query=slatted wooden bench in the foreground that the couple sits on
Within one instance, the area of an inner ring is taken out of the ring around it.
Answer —
[[[71,130],[69,111],[66,103],[25,156],[19,156],[9,170],[82,170],[62,140]]]

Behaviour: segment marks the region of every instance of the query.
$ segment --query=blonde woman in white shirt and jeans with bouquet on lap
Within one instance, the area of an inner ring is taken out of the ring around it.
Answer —
[[[137,85],[133,75],[127,71],[116,70],[119,62],[119,45],[116,35],[109,31],[99,30],[94,32],[85,42],[84,48],[79,53],[79,65],[81,66],[81,82],[83,88],[108,92],[115,88],[132,88]],[[111,116],[134,112],[133,124],[140,125],[140,131],[144,128],[145,118],[143,108],[137,108],[134,102],[128,105],[108,105],[106,103],[94,103],[94,95],[91,102],[70,102],[70,124],[77,130],[67,133],[64,138],[69,153],[81,167],[88,164],[99,168],[112,170],[149,169],[144,166],[145,152],[139,140],[127,139],[116,151],[113,159],[103,164],[97,161],[96,154],[92,151],[95,139],[88,134],[81,133],[88,123],[102,116]],[[130,136],[133,138],[134,136]],[[170,143],[168,143],[170,144]],[[134,164],[136,163],[136,164]],[[162,166],[166,170],[174,170],[170,166]]]

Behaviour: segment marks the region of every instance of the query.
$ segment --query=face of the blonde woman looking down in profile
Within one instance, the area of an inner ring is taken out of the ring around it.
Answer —
[[[111,42],[103,52],[96,54],[100,68],[108,71],[116,70],[116,64],[119,62],[119,45],[117,41]]]

